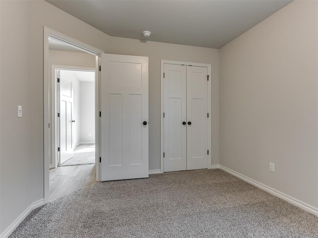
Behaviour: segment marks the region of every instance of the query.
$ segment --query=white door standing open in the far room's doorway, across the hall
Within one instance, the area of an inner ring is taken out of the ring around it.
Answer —
[[[58,74],[60,74],[58,70]],[[72,82],[63,77],[60,78],[60,164],[74,156],[72,112],[73,112],[73,88]]]

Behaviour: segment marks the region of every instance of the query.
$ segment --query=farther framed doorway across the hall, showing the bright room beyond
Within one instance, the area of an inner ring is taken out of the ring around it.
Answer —
[[[52,65],[57,95],[56,165],[95,164],[94,68]]]

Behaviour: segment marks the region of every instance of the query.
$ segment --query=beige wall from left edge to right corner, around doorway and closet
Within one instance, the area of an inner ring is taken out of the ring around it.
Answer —
[[[219,50],[110,37],[43,0],[0,0],[0,11],[0,234],[43,198],[43,26],[105,53],[149,57],[151,170],[160,168],[160,60],[211,63],[212,163],[219,163]]]

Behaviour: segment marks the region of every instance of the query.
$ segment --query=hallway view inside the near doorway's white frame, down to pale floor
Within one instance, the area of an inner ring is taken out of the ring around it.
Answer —
[[[53,42],[53,43],[52,43]],[[94,66],[93,56],[69,49],[58,50],[49,40],[49,59],[60,63]],[[50,169],[50,200],[54,200],[96,181],[95,168],[95,68],[52,64],[55,94],[52,116],[57,151]],[[66,168],[68,167],[68,168]]]

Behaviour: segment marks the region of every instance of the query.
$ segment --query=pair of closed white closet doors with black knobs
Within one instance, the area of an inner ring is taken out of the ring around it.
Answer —
[[[164,172],[208,168],[208,68],[164,64]]]

